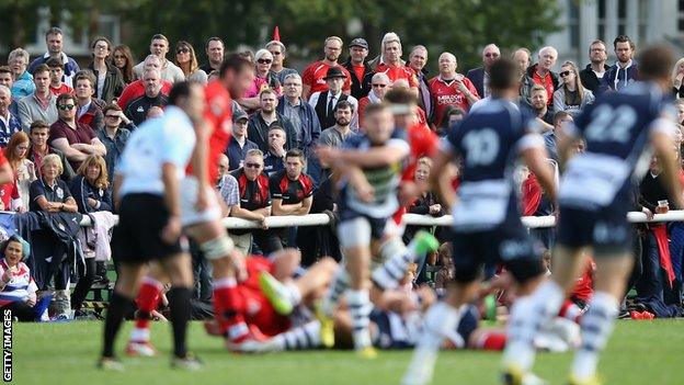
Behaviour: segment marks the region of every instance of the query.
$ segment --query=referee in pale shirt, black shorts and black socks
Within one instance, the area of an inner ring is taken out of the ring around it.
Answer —
[[[173,286],[169,292],[174,342],[171,366],[190,371],[201,367],[185,349],[193,275],[190,254],[180,240],[179,180],[193,152],[204,104],[200,84],[176,83],[164,115],[136,129],[122,155],[114,177],[119,222],[112,240],[121,267],[104,324],[99,361],[102,370],[124,369],[114,356],[114,339],[150,261],[160,263]]]

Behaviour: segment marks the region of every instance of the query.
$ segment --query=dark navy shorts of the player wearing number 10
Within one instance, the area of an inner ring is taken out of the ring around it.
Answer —
[[[486,263],[502,263],[518,282],[544,272],[540,247],[520,220],[485,231],[454,230],[454,276],[468,283],[479,279]]]

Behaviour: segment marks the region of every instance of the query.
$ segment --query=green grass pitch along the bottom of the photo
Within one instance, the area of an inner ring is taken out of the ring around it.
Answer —
[[[119,336],[118,351],[130,325]],[[219,339],[193,322],[190,346],[205,362],[200,373],[171,371],[168,325],[153,325],[152,338],[161,354],[152,359],[124,358],[127,371],[103,373],[94,363],[101,347],[102,322],[15,324],[15,384],[398,384],[409,351],[381,352],[375,361],[357,360],[347,351],[237,355]],[[497,384],[500,353],[443,352],[434,384]],[[684,321],[619,321],[601,362],[606,384],[684,384]],[[536,372],[551,384],[563,384],[571,354],[539,354]]]

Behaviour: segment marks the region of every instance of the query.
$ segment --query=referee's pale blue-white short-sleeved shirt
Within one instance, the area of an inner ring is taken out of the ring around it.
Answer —
[[[147,193],[163,195],[161,166],[175,165],[179,180],[185,174],[195,146],[195,131],[190,117],[169,105],[163,116],[148,120],[132,135],[116,173],[124,177],[119,194]]]

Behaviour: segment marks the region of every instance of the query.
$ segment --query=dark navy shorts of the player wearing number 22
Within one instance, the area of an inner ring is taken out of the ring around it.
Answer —
[[[591,246],[596,257],[631,250],[631,225],[626,205],[598,210],[560,207],[558,245],[568,248]]]

